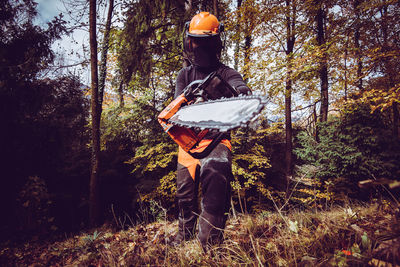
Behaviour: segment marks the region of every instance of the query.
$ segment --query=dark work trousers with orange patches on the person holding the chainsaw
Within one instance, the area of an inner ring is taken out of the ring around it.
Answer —
[[[198,150],[211,141],[204,140]],[[195,151],[199,152],[199,151]],[[176,198],[179,208],[181,239],[195,236],[203,248],[222,241],[229,211],[232,181],[232,153],[228,140],[222,140],[205,158],[195,159],[179,148]],[[198,189],[201,188],[201,209],[198,209]]]

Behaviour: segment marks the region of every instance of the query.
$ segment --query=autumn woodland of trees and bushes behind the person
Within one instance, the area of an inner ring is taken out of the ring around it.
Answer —
[[[66,3],[74,25],[38,26],[33,0],[0,1],[2,239],[175,218],[177,146],[156,118],[184,64],[184,23],[200,10],[225,24],[223,62],[269,99],[257,127],[233,132],[232,207],[398,204],[399,1]],[[52,50],[78,27],[91,34],[81,62],[91,85]]]

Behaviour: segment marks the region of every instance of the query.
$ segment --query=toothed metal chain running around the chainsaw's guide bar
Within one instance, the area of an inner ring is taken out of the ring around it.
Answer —
[[[259,94],[253,94],[253,95],[240,95],[237,97],[229,97],[229,98],[219,98],[216,100],[209,100],[209,101],[205,101],[205,102],[199,102],[199,103],[195,103],[193,105],[196,106],[200,106],[200,105],[205,105],[205,104],[213,104],[213,103],[218,103],[218,102],[229,102],[229,101],[235,101],[235,100],[244,100],[244,99],[258,99],[260,100],[260,104],[258,106],[258,108],[252,112],[252,114],[250,116],[247,117],[247,119],[244,119],[242,121],[238,121],[234,124],[230,124],[230,125],[225,125],[225,124],[221,124],[221,125],[216,125],[216,124],[209,124],[207,125],[206,123],[201,123],[199,125],[198,122],[179,122],[179,121],[172,121],[170,120],[169,123],[173,124],[173,125],[177,125],[177,126],[181,126],[181,127],[185,127],[185,128],[192,128],[194,130],[204,130],[204,129],[209,129],[211,131],[217,131],[217,132],[226,132],[238,127],[246,127],[251,121],[253,121],[255,118],[257,118],[257,116],[261,113],[261,111],[263,110],[264,106],[267,103],[267,99],[265,96],[263,95],[259,95]],[[188,106],[184,106],[182,107],[183,109],[187,109],[190,108],[192,105],[188,105]],[[251,119],[248,119],[251,118]]]

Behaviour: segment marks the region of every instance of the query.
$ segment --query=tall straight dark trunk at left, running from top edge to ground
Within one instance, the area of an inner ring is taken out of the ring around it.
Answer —
[[[92,170],[90,175],[89,221],[91,226],[99,222],[99,162],[100,162],[100,114],[97,70],[96,0],[89,2],[91,111],[92,111]]]

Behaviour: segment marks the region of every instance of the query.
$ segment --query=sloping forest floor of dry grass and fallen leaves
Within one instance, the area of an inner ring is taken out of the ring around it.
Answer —
[[[172,247],[177,222],[102,227],[56,242],[0,244],[1,266],[400,266],[400,219],[390,203],[240,214],[204,253]]]

